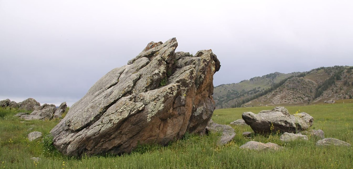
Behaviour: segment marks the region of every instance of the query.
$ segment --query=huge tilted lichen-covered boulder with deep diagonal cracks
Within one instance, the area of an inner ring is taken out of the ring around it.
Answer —
[[[50,133],[63,154],[121,154],[138,144],[202,133],[215,107],[211,50],[175,52],[176,39],[150,42],[127,65],[115,68],[76,102]]]

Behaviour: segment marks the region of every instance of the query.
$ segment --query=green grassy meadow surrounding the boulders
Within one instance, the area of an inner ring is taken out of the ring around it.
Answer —
[[[345,102],[345,103],[343,103]],[[352,102],[352,103],[351,103]],[[212,120],[229,124],[240,119],[246,111],[258,113],[268,107],[217,109]],[[312,129],[322,129],[325,136],[353,144],[353,100],[337,101],[335,104],[311,106],[286,106],[291,114],[306,112],[314,117]],[[11,169],[353,169],[353,147],[316,147],[317,138],[309,141],[283,143],[279,135],[242,136],[252,131],[248,126],[232,126],[236,136],[227,145],[218,146],[219,134],[186,134],[182,140],[167,147],[140,146],[131,154],[121,156],[83,156],[80,159],[63,156],[48,146],[45,139],[59,121],[23,121],[13,115],[19,110],[0,109],[0,168]],[[40,131],[43,138],[29,142],[27,134]],[[239,147],[248,141],[272,142],[284,148],[278,151],[245,150]],[[30,157],[39,157],[39,161]]]

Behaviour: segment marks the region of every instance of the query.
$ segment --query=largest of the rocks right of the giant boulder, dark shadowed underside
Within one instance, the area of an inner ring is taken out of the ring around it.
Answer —
[[[272,110],[263,110],[258,114],[245,112],[242,114],[244,121],[258,134],[271,132],[299,132],[312,126],[313,117],[307,113],[290,115],[284,107],[275,107]]]

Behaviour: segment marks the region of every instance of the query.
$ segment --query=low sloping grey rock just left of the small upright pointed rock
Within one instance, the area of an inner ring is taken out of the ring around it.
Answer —
[[[20,118],[25,120],[51,120],[55,109],[55,105],[44,104],[37,107],[32,113],[28,115],[22,115]]]

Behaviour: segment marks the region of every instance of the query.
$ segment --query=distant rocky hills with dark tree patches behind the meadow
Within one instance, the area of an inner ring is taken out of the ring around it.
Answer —
[[[216,108],[264,105],[307,105],[351,99],[353,67],[320,67],[308,72],[271,73],[214,88]]]

